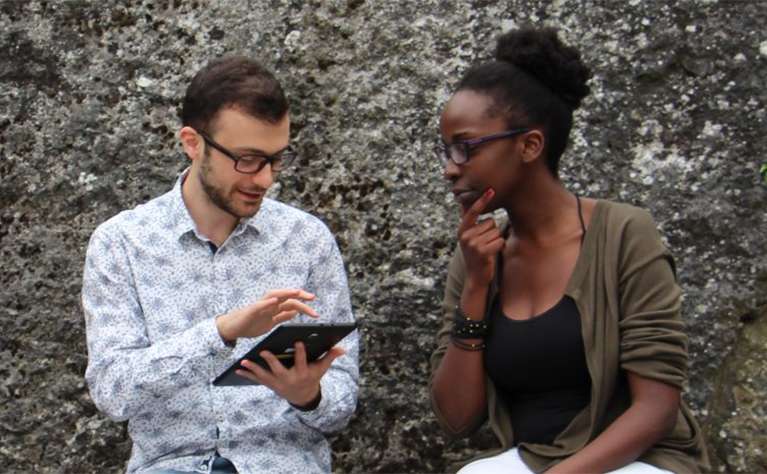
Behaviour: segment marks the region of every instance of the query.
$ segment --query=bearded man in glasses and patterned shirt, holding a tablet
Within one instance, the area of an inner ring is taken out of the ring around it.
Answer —
[[[86,380],[128,420],[128,472],[329,472],[326,433],[357,399],[358,336],[287,369],[248,365],[262,385],[211,381],[276,324],[351,322],[338,247],[315,217],[265,197],[293,153],[277,80],[242,57],[189,85],[179,132],[192,164],[167,194],[91,237],[83,279]]]

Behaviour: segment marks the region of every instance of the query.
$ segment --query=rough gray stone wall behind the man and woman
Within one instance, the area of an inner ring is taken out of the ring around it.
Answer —
[[[762,0],[0,1],[0,470],[124,469],[125,427],[83,382],[84,251],[186,166],[177,107],[225,53],[283,80],[302,158],[272,195],[346,259],[364,350],[335,471],[442,472],[494,445],[448,440],[429,407],[457,222],[431,149],[463,71],[525,23],[559,27],[595,73],[562,180],[648,208],[676,256],[685,397],[715,468],[767,472]]]

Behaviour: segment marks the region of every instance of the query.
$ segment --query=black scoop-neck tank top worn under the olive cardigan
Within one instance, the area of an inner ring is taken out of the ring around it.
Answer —
[[[581,245],[586,232],[581,213]],[[591,399],[581,317],[569,296],[528,320],[492,302],[485,369],[511,416],[514,444],[551,444]]]

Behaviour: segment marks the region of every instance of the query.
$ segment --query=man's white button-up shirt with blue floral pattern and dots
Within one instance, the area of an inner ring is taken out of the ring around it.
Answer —
[[[100,225],[88,245],[86,380],[101,411],[128,420],[128,472],[205,472],[216,452],[242,473],[329,472],[324,434],[343,428],[357,402],[357,331],[322,378],[315,410],[264,386],[211,382],[261,339],[228,347],[215,317],[269,290],[317,295],[310,305],[320,317],[291,323],[354,320],[335,239],[319,219],[264,199],[214,252],[184,205],[182,181]]]

